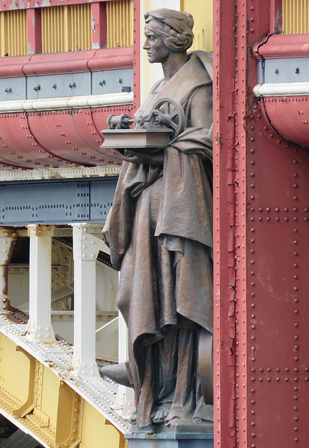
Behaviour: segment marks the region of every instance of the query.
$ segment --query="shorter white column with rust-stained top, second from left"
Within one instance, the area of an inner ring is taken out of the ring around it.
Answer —
[[[27,330],[34,340],[50,342],[55,335],[50,320],[51,307],[51,239],[52,225],[28,225],[29,321]]]

